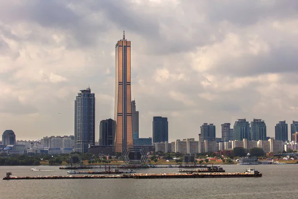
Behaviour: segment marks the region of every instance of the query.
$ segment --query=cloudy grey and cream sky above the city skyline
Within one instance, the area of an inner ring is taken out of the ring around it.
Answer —
[[[0,0],[0,131],[74,134],[90,87],[99,122],[114,117],[115,44],[132,42],[140,137],[168,117],[169,141],[203,123],[298,120],[297,0]],[[58,114],[61,113],[61,114]]]

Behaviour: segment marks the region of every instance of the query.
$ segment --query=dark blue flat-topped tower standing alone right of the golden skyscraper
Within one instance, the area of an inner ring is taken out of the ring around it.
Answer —
[[[152,142],[168,142],[167,117],[155,116],[152,122]]]

